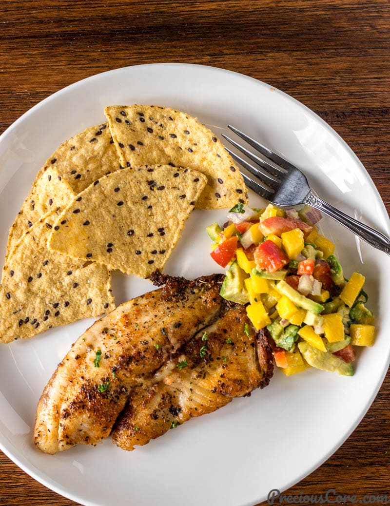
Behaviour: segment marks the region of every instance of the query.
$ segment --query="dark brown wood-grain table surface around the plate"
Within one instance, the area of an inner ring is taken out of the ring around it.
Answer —
[[[390,209],[387,0],[2,0],[0,132],[40,100],[102,71],[157,62],[268,82],[325,119]],[[390,375],[352,436],[288,490],[390,500]],[[129,497],[130,500],[131,496]],[[0,505],[68,506],[0,452]]]

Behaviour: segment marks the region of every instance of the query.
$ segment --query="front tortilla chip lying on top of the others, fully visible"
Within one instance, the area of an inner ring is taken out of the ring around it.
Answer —
[[[63,211],[49,248],[148,277],[163,268],[205,184],[203,174],[169,165],[104,176]]]

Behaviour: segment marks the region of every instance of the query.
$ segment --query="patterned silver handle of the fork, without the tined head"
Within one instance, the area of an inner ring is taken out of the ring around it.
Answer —
[[[363,223],[358,222],[358,220],[355,220],[355,218],[351,218],[351,216],[342,213],[339,209],[336,209],[321,198],[317,197],[317,195],[314,195],[311,191],[306,196],[304,203],[321,210],[324,214],[330,216],[338,223],[341,223],[341,225],[344,225],[344,227],[352,230],[352,232],[371,244],[371,246],[374,246],[375,248],[387,253],[387,255],[390,255],[390,239],[381,232],[378,232],[378,230],[375,230],[368,225],[364,225]]]

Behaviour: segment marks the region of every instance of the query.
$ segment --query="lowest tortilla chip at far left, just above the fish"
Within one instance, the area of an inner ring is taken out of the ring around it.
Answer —
[[[36,222],[20,238],[4,267],[0,285],[2,343],[31,338],[115,307],[105,266],[47,249],[58,216],[55,210]]]

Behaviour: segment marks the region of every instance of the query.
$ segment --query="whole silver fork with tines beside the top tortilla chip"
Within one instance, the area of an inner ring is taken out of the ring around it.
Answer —
[[[278,206],[289,207],[298,204],[308,204],[316,207],[324,214],[336,220],[338,223],[341,223],[344,227],[349,228],[352,232],[375,248],[384,251],[387,255],[390,255],[390,239],[388,237],[381,232],[378,232],[378,230],[375,230],[368,225],[364,225],[354,218],[351,218],[351,216],[342,213],[339,209],[336,209],[315,195],[310,189],[306,176],[302,174],[295,165],[285,160],[280,155],[274,153],[263,144],[260,144],[248,135],[236,129],[234,126],[228,125],[228,128],[252,146],[252,148],[256,151],[267,157],[263,158],[252,153],[227,135],[222,134],[222,137],[224,137],[257,165],[254,166],[251,163],[248,163],[245,159],[241,158],[241,156],[238,156],[229,148],[226,148],[236,161],[238,161],[251,174],[253,174],[253,176],[255,176],[254,178],[250,178],[246,174],[242,173],[246,186],[251,188],[258,195],[261,195],[269,200],[272,204]],[[270,163],[269,160],[274,163]]]

